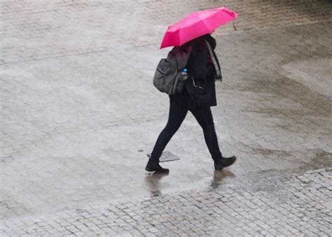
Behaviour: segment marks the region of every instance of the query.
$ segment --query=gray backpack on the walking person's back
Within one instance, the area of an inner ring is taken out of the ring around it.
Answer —
[[[153,76],[153,85],[163,93],[173,95],[181,93],[185,79],[182,77],[182,69],[186,66],[191,55],[191,46],[175,46],[167,58],[162,58],[158,63]]]

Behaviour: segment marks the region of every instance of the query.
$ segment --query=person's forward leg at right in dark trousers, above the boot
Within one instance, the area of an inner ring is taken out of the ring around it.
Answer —
[[[214,121],[211,108],[208,105],[195,107],[191,109],[191,113],[203,129],[205,142],[212,159],[215,161],[222,157],[219,149],[218,139],[216,137],[216,130],[214,129]]]

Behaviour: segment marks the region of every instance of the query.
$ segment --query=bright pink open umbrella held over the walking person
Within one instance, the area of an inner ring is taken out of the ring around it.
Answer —
[[[237,18],[237,13],[228,8],[214,8],[191,13],[183,20],[168,27],[160,48],[181,46]]]

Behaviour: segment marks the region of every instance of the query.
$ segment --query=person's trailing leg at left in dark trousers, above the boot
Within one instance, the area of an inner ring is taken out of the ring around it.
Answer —
[[[188,109],[180,100],[181,97],[170,97],[170,114],[168,116],[167,125],[158,136],[158,140],[155,142],[151,153],[151,159],[154,161],[159,162],[162,151],[165,149],[168,142],[170,142],[174,133],[180,128],[184,118],[186,118]]]

